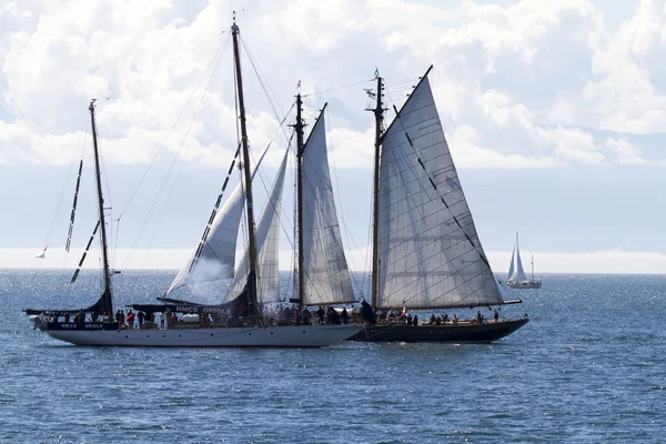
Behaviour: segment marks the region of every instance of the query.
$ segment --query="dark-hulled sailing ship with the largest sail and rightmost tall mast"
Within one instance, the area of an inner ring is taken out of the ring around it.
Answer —
[[[384,320],[389,311],[425,315],[521,302],[503,299],[481,245],[435,107],[431,70],[402,109],[394,107],[385,131],[383,79],[375,71],[371,305],[383,314],[352,341],[493,342],[528,322],[485,322],[481,312],[474,322],[452,316],[438,325]]]

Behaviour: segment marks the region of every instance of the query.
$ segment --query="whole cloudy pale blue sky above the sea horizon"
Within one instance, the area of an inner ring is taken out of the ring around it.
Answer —
[[[0,0],[0,268],[78,263],[97,220],[92,98],[114,266],[186,261],[236,144],[232,10],[253,155],[272,140],[258,201],[287,147],[279,123],[301,81],[310,124],[329,104],[352,269],[367,269],[371,215],[374,120],[363,89],[379,69],[389,108],[400,108],[433,64],[444,132],[496,272],[508,269],[516,232],[537,274],[666,272],[666,0]],[[281,269],[289,250],[283,234]],[[85,266],[98,266],[92,256]]]

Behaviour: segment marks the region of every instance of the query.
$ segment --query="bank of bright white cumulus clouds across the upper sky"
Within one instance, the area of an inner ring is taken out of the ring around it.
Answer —
[[[389,104],[400,107],[411,87],[401,81],[434,63],[433,91],[460,167],[658,163],[623,134],[666,123],[664,6],[644,0],[610,32],[589,0],[248,3],[239,22],[252,51],[242,62],[251,143],[268,143],[302,80],[313,91],[309,101],[331,102],[336,165],[370,168],[373,121],[362,88],[373,87],[374,68],[386,78]],[[4,4],[0,163],[63,163],[94,97],[108,161],[148,164],[164,147],[169,159],[178,153],[193,167],[225,165],[236,144],[231,43],[220,64],[214,54],[229,37],[228,7]],[[256,81],[254,62],[269,84]],[[206,88],[215,67],[218,80]],[[369,83],[336,89],[363,79]]]

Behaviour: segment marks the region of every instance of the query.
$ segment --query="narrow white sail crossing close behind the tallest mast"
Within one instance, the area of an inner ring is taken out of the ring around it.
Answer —
[[[260,304],[278,302],[280,300],[280,275],[278,268],[279,239],[280,239],[280,212],[282,209],[282,190],[284,185],[284,172],[286,170],[286,155],[284,153],[278,175],[269,191],[266,203],[256,223],[256,300]],[[239,263],[233,281],[224,296],[224,302],[236,297],[248,283],[250,272],[250,259],[248,250]]]

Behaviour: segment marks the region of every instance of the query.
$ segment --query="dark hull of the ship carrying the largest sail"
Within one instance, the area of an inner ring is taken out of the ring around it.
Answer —
[[[509,335],[529,320],[488,322],[486,324],[461,323],[457,325],[420,325],[381,324],[367,326],[347,341],[364,342],[453,342],[453,343],[491,343]]]

